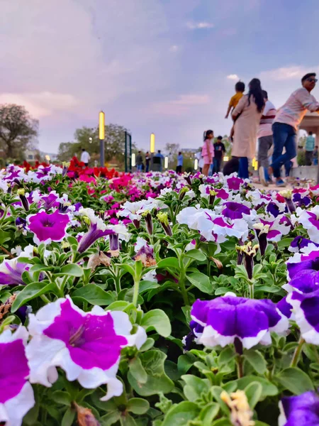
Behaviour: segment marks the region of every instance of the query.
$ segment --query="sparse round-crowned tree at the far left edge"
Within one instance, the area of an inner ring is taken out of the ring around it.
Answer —
[[[15,104],[0,105],[0,143],[8,158],[25,151],[38,135],[38,121],[25,107]]]

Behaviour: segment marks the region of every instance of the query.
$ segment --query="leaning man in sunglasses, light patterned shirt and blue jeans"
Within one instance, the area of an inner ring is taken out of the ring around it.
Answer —
[[[303,87],[295,90],[283,107],[279,109],[272,125],[274,138],[274,153],[269,173],[274,173],[277,186],[285,186],[281,179],[281,166],[296,157],[296,140],[298,125],[301,124],[307,110],[319,111],[319,102],[310,92],[318,81],[315,72],[309,72],[301,79]],[[286,153],[282,153],[284,147]]]

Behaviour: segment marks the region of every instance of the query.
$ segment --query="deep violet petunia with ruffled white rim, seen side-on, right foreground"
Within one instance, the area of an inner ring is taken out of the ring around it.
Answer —
[[[256,344],[271,344],[270,332],[286,332],[289,321],[271,300],[245,297],[217,297],[209,301],[196,300],[191,318],[203,327],[197,339],[204,346],[226,346],[239,339],[250,349]]]

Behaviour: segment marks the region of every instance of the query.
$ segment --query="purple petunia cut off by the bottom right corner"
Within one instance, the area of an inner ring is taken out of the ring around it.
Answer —
[[[318,426],[319,395],[313,391],[286,396],[279,403],[279,426]]]

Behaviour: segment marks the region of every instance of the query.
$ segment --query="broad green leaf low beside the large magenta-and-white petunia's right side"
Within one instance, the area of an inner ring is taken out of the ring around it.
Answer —
[[[164,371],[164,361],[166,355],[162,351],[152,349],[151,351],[143,352],[140,354],[140,360],[142,366],[145,368],[147,373],[146,383],[138,382],[128,372],[128,381],[130,386],[133,387],[134,391],[141,396],[155,395],[159,392],[169,393],[174,388],[174,382],[167,377]]]

